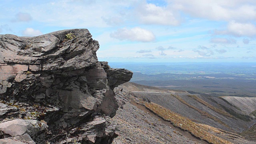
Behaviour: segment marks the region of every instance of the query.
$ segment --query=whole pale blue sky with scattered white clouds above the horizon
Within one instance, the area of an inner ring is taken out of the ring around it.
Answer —
[[[0,0],[0,34],[72,28],[100,61],[256,62],[256,0]]]

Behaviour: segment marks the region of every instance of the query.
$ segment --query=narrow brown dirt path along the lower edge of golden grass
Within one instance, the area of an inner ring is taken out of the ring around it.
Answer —
[[[180,132],[183,136],[189,138],[190,140],[193,140],[194,142],[197,142],[198,144],[208,144],[208,142],[201,140],[200,138],[197,138],[195,136],[193,136],[192,134],[190,134],[190,132],[185,131],[185,130],[181,130],[178,127],[175,127],[174,125],[172,125],[170,122],[162,119],[161,117],[157,116],[156,114],[154,114],[154,112],[151,112],[150,110],[148,110],[145,106],[141,105],[141,104],[137,104],[136,102],[131,101],[131,104],[136,106],[138,109],[143,110],[145,113],[150,114],[150,116],[153,116],[154,118],[159,119],[163,124],[170,126],[172,129],[174,129],[175,131]]]

